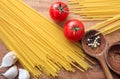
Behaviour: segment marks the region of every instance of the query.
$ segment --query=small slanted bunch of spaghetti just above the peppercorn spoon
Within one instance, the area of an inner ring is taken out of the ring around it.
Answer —
[[[113,18],[96,24],[95,26],[91,26],[90,28],[86,29],[86,31],[89,31],[91,29],[99,30],[105,35],[110,34],[120,29],[120,15],[116,15]]]

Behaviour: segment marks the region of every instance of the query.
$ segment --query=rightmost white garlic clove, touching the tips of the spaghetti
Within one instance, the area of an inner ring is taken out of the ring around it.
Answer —
[[[18,79],[30,79],[30,74],[25,69],[19,69]]]

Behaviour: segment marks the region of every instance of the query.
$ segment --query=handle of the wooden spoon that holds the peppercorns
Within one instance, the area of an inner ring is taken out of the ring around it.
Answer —
[[[106,79],[113,79],[112,74],[111,74],[111,72],[110,72],[110,70],[109,70],[109,68],[108,68],[108,66],[107,66],[107,64],[106,64],[106,62],[105,62],[104,56],[101,56],[101,57],[99,58],[99,61],[100,61],[100,63],[101,63],[101,66],[102,66],[102,68],[103,68],[103,71],[104,71],[104,73],[105,73]]]

